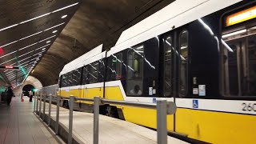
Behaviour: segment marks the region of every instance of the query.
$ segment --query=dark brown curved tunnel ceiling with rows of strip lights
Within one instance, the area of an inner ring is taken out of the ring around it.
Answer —
[[[1,70],[2,77],[13,86],[28,75],[43,86],[56,84],[66,63],[102,43],[110,49],[123,30],[173,1],[1,1],[0,65],[22,67]]]

